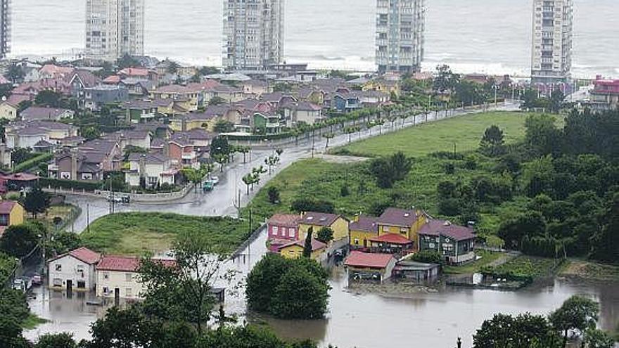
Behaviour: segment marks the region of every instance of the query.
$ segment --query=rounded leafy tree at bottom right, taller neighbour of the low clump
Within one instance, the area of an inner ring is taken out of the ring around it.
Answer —
[[[599,304],[592,299],[574,295],[549,315],[552,326],[563,333],[563,347],[568,342],[570,330],[578,330],[585,333],[586,330],[594,330],[599,316]]]

